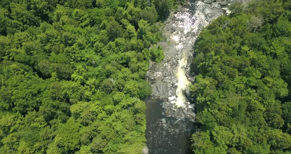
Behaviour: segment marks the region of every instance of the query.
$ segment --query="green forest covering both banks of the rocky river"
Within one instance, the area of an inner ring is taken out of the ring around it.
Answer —
[[[0,0],[0,154],[141,154],[145,80],[182,0]],[[291,154],[291,0],[233,3],[194,44],[195,154]]]

